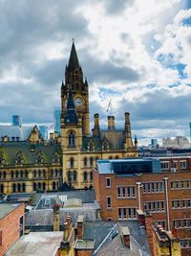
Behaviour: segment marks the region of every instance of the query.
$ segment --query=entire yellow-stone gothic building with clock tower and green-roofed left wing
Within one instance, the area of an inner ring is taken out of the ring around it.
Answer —
[[[7,141],[0,144],[0,193],[54,191],[66,183],[74,188],[93,184],[97,159],[138,156],[138,142],[132,142],[130,115],[125,113],[124,129],[115,128],[108,116],[108,129],[95,126],[90,134],[89,84],[74,42],[65,82],[61,85],[61,137],[43,140]],[[39,135],[40,136],[40,135]]]

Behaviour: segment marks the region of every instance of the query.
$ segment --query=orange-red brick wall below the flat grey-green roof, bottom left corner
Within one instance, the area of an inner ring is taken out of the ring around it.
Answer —
[[[3,256],[20,237],[20,217],[24,216],[25,206],[21,204],[10,214],[0,220],[0,230],[2,230],[2,245],[0,246],[0,256]]]

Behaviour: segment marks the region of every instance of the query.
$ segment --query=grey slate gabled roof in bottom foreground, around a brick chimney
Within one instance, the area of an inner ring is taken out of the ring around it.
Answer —
[[[117,227],[113,232],[111,232],[105,243],[100,246],[116,223],[119,223],[119,225],[117,224]],[[119,234],[119,227],[121,225],[128,226],[130,230],[131,246],[133,251],[122,244]],[[141,255],[139,254],[139,249],[142,250],[142,255],[150,255],[145,229],[139,227],[138,221],[86,221],[84,223],[83,238],[94,239],[96,241],[95,249],[100,246],[96,251],[96,255]]]

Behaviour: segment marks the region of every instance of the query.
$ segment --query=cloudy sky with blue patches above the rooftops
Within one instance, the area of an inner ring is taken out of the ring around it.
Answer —
[[[117,127],[189,136],[190,0],[0,0],[0,123],[53,123],[74,38],[103,127],[112,99]]]

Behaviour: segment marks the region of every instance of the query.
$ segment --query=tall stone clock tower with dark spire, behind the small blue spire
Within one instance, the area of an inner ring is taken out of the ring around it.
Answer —
[[[67,111],[69,91],[72,90],[77,117],[82,121],[82,134],[90,136],[89,88],[88,81],[83,80],[82,68],[79,65],[74,41],[69,63],[65,69],[65,82],[61,85],[61,120],[64,120]]]

